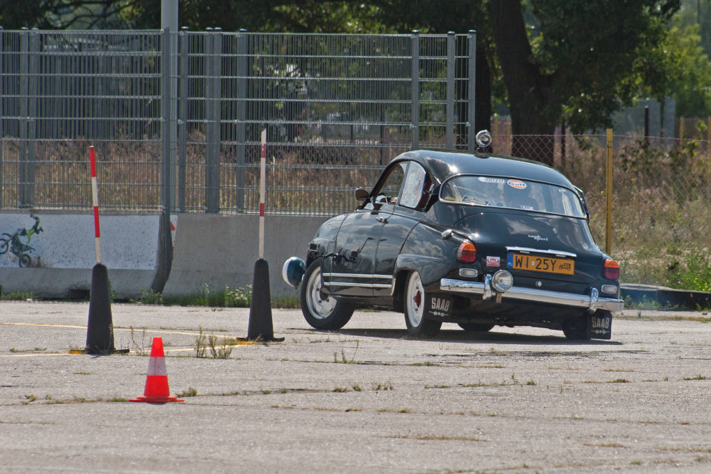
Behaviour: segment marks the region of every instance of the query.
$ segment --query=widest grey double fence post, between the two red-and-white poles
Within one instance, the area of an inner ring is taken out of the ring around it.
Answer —
[[[209,28],[208,28],[209,29]],[[222,32],[215,28],[214,33],[208,33],[208,49],[205,51],[205,77],[207,80],[208,110],[207,119],[207,157],[205,163],[205,210],[220,212],[220,82],[222,76]]]

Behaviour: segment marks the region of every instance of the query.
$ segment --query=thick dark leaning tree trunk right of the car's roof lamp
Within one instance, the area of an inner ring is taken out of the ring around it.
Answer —
[[[508,90],[511,113],[511,154],[553,164],[553,134],[557,111],[551,111],[552,75],[533,63],[520,0],[491,2],[496,53]]]

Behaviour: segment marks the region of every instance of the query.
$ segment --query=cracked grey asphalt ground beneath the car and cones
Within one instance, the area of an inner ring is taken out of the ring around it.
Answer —
[[[627,311],[612,340],[356,312],[338,332],[272,310],[281,343],[244,338],[248,309],[113,304],[117,348],[85,355],[88,303],[0,302],[0,471],[711,471],[711,316]],[[171,392],[144,393],[151,340]],[[208,342],[209,345],[209,342]]]

